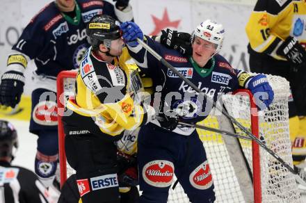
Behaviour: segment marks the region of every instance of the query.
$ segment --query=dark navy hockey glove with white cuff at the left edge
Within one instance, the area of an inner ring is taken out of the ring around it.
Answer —
[[[5,72],[1,77],[0,103],[14,108],[24,92],[24,74],[16,71]]]

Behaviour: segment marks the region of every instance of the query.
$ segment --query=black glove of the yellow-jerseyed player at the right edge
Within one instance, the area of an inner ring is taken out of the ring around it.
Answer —
[[[306,51],[296,38],[289,36],[277,49],[276,54],[284,56],[293,65],[306,63]]]

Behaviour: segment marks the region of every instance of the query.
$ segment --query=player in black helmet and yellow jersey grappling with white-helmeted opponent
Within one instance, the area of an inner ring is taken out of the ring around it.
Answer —
[[[97,15],[88,23],[91,47],[81,61],[75,98],[63,117],[67,161],[77,173],[83,203],[120,202],[117,147],[124,130],[134,130],[154,117],[145,104],[140,77],[133,71],[119,23]]]

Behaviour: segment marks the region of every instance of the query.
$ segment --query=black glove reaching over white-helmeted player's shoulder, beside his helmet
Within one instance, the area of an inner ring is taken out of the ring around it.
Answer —
[[[191,35],[189,33],[178,33],[167,29],[167,31],[161,31],[161,44],[170,49],[175,49],[181,54],[191,56]]]

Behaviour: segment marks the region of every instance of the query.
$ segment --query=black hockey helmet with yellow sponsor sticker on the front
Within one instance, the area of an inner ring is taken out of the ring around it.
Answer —
[[[86,34],[92,49],[99,44],[111,48],[111,41],[121,38],[120,23],[109,15],[95,15],[86,26]]]

